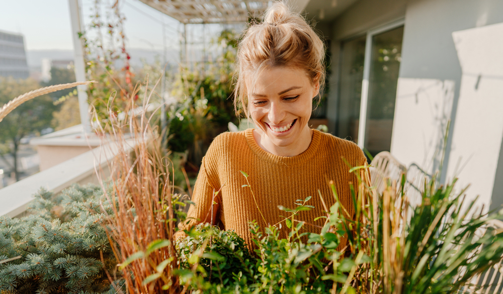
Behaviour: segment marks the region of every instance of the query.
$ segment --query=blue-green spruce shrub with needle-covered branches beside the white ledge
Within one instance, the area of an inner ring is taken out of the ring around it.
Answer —
[[[117,261],[102,207],[111,211],[102,195],[92,185],[60,194],[41,189],[28,210],[32,215],[0,217],[0,292],[115,293]]]

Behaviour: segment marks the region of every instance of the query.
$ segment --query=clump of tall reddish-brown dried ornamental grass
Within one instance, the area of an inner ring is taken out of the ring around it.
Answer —
[[[148,83],[145,87],[144,110],[153,93],[148,91]],[[107,200],[113,204],[107,234],[114,240],[111,244],[117,260],[124,264],[122,275],[127,293],[174,293],[179,282],[173,272],[178,265],[173,242],[172,166],[167,154],[161,151],[156,130],[150,127],[151,117],[132,111],[135,108],[132,97],[138,90],[136,87],[128,94],[129,103],[122,112],[125,118],[119,119],[109,105],[110,120],[107,126],[99,126],[97,130],[103,138],[110,135],[118,148],[117,156],[109,165],[112,191],[107,192],[106,184],[100,179]],[[113,99],[110,101],[113,104]],[[134,141],[132,148],[128,147],[131,141]],[[151,244],[160,240],[169,245],[151,249]],[[138,252],[144,255],[125,262]],[[165,260],[170,261],[159,269],[157,266]],[[156,279],[148,281],[152,275],[156,275]]]

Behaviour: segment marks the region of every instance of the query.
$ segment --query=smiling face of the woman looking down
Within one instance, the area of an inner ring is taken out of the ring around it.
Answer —
[[[302,71],[300,71],[302,73]],[[311,117],[315,85],[294,67],[265,68],[258,76],[250,95],[249,115],[257,129],[257,144],[269,153],[295,156],[311,143],[312,130],[307,122]]]

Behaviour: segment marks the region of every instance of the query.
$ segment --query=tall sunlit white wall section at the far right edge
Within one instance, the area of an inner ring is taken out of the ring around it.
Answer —
[[[488,210],[503,137],[503,23],[453,38],[463,75],[447,174]]]

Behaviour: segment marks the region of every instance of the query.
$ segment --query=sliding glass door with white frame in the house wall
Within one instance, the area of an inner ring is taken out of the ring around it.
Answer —
[[[336,135],[374,156],[389,151],[403,20],[342,42]]]

